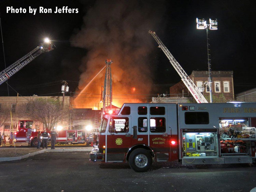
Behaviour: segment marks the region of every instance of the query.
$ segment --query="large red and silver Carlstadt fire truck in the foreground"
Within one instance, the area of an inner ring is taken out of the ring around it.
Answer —
[[[185,165],[256,162],[256,103],[125,103],[103,115],[91,161]]]

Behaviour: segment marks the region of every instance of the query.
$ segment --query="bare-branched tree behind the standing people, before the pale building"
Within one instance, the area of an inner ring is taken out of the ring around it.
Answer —
[[[30,116],[44,123],[47,130],[53,130],[54,126],[70,116],[69,106],[62,106],[62,102],[53,98],[37,98],[30,101]]]

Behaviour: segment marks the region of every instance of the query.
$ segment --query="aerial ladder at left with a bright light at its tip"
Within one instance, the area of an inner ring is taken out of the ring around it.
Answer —
[[[8,68],[1,71],[0,73],[0,85],[4,83],[6,80],[8,80],[11,76],[13,76],[15,73],[17,73],[19,70],[21,70],[25,65],[33,61],[35,58],[37,58],[42,53],[48,52],[53,50],[53,44],[50,40],[47,38],[45,41],[39,45],[38,47],[34,48],[32,51],[30,51],[27,55],[20,58],[13,64],[11,64]]]

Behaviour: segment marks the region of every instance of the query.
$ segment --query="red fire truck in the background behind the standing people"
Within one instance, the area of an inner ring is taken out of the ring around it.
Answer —
[[[16,143],[28,143],[32,147],[37,147],[37,134],[35,129],[32,129],[33,121],[20,120],[18,131],[15,134]],[[50,133],[51,131],[47,131]],[[86,130],[61,130],[57,131],[58,136],[56,142],[59,144],[89,144],[93,142],[93,134]]]

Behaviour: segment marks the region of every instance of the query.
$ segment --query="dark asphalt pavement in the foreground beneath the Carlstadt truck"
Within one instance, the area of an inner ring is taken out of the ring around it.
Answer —
[[[0,162],[0,191],[250,191],[256,166],[157,163],[136,173],[127,163],[90,162],[89,152],[42,153]]]

